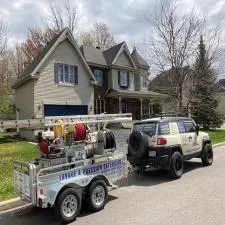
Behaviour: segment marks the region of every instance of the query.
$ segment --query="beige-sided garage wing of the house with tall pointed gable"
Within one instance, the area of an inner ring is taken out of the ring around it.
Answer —
[[[68,28],[13,85],[17,119],[94,113],[95,78]]]

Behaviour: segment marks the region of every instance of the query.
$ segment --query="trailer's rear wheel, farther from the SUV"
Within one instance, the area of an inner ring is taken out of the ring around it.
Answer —
[[[58,197],[54,210],[61,223],[73,222],[81,209],[81,198],[74,188],[65,189]]]

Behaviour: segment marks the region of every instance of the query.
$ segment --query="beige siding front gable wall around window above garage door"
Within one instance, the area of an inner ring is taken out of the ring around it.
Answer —
[[[55,83],[54,63],[78,66],[78,84],[66,86]],[[39,74],[34,87],[36,118],[43,117],[43,107],[38,110],[38,106],[43,106],[43,104],[88,105],[88,113],[93,114],[94,87],[90,83],[90,75],[68,40],[64,40],[57,46],[40,69]]]

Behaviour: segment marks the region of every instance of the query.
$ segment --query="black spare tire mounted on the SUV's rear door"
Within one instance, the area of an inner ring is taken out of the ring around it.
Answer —
[[[140,131],[133,131],[128,142],[128,155],[138,159],[148,156],[148,136]]]

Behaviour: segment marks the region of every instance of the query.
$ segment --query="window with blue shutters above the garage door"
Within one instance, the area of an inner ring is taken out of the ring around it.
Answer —
[[[55,83],[78,84],[78,67],[74,65],[55,63]]]

